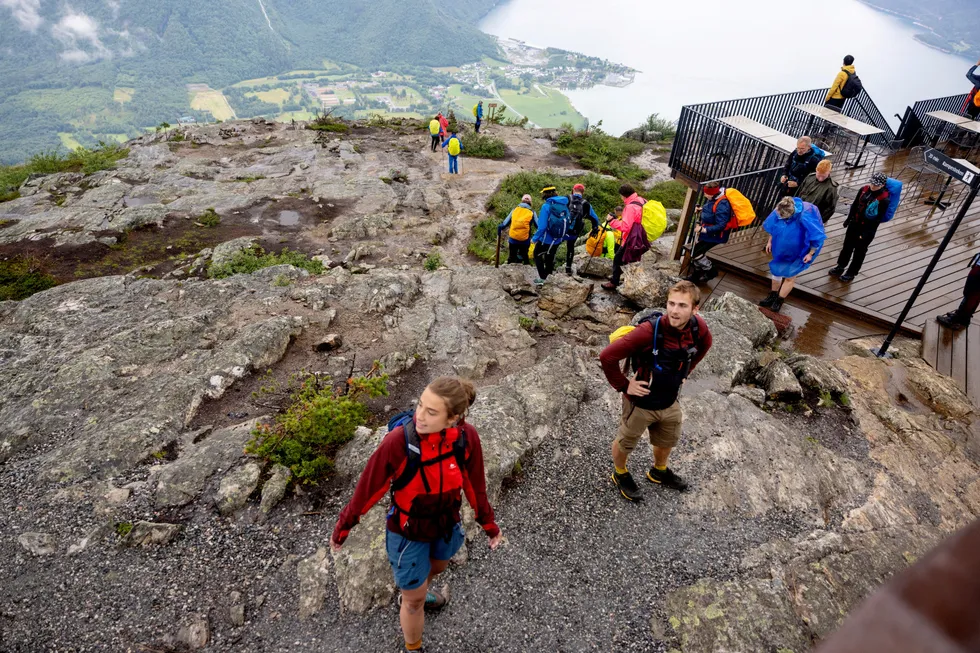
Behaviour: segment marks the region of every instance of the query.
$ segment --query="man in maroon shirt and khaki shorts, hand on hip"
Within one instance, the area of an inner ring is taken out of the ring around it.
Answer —
[[[700,302],[697,286],[690,281],[677,283],[667,294],[664,315],[642,321],[599,355],[609,384],[623,393],[623,418],[612,444],[612,479],[630,501],[643,500],[626,460],[644,431],[649,432],[653,447],[647,480],[676,490],[687,487],[667,467],[667,458],[681,435],[683,415],[677,395],[687,375],[711,348],[711,331],[697,315]],[[626,365],[621,369],[622,361]],[[635,374],[628,378],[631,366]]]

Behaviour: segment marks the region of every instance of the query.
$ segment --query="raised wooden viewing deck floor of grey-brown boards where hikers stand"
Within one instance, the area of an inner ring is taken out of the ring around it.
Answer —
[[[912,176],[904,169],[905,154],[881,160],[874,167],[860,170],[834,170],[834,178],[840,182],[842,198],[839,213],[827,223],[827,241],[823,251],[809,270],[797,279],[794,296],[836,306],[838,313],[847,313],[860,320],[887,327],[894,323],[918,283],[922,272],[943,239],[966,197],[966,187],[953,182],[952,194],[946,199],[951,204],[946,210],[937,209],[929,215],[932,206],[924,203],[930,197],[932,183],[908,184]],[[871,244],[861,273],[850,283],[843,283],[827,272],[833,268],[844,240],[843,222],[850,201],[844,196],[867,183],[873,172],[883,170],[890,176],[899,177],[906,183],[898,212],[889,223],[881,225]],[[903,174],[904,171],[904,174]],[[931,181],[931,180],[930,180]],[[731,242],[715,247],[709,257],[723,269],[736,270],[757,278],[768,278],[769,256],[765,253],[767,234],[761,229],[765,216],[759,216],[757,225],[732,236]],[[955,308],[962,296],[962,288],[970,259],[980,247],[980,201],[975,202],[964,218],[943,258],[933,271],[929,282],[919,295],[905,321],[908,333],[920,335],[927,323],[938,313]]]

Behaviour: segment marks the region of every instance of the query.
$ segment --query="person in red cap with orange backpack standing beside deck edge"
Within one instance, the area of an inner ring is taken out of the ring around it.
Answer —
[[[712,247],[728,242],[732,231],[752,224],[752,203],[734,188],[722,188],[716,181],[704,185],[704,204],[695,209],[700,214],[697,243],[691,251],[689,281],[704,283],[718,275],[706,256]]]

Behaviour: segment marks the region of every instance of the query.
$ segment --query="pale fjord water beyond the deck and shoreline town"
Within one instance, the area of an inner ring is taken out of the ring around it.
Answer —
[[[857,0],[509,0],[480,28],[642,71],[626,88],[568,91],[613,134],[685,104],[826,88],[845,54],[898,125],[916,100],[964,93],[972,61],[929,48],[913,27]]]

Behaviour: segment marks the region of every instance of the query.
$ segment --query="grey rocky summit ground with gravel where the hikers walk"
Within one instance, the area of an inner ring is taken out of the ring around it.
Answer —
[[[467,515],[429,651],[800,653],[980,516],[977,409],[918,343],[817,360],[734,295],[703,307],[715,345],[682,393],[671,464],[691,488],[641,480],[646,500],[623,501],[597,355],[663,305],[669,237],[621,295],[597,287],[601,261],[540,289],[528,267],[479,264],[470,232],[507,175],[577,169],[546,132],[495,127],[508,157],[450,176],[416,127],[148,135],[116,170],[0,204],[0,258],[64,282],[0,302],[0,650],[400,650],[385,506],[338,554],[328,541],[377,425],[443,373],[477,384],[506,541],[490,552]],[[209,208],[220,224],[197,226]],[[324,272],[206,278],[252,242]],[[282,406],[264,386],[376,360],[391,394],[329,482],[243,454]],[[648,465],[641,444],[631,469]]]

